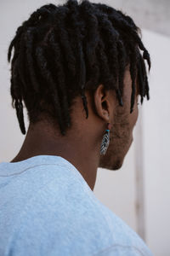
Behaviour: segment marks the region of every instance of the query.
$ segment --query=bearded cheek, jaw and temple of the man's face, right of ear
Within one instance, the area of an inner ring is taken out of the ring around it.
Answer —
[[[132,80],[130,73],[125,73],[124,91],[123,91],[123,107],[117,105],[114,112],[114,121],[110,135],[110,145],[104,156],[100,157],[99,167],[118,170],[122,167],[122,163],[128,149],[133,143],[133,127],[139,116],[138,99],[139,87],[137,86],[135,93],[135,102],[133,113],[130,113]],[[137,84],[137,81],[136,81]],[[138,84],[137,84],[138,85]]]

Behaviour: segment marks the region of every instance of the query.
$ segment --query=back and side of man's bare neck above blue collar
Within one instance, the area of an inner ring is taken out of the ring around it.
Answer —
[[[43,128],[42,128],[43,127]],[[93,145],[93,146],[92,146]],[[94,189],[99,166],[99,148],[92,138],[77,135],[75,131],[62,137],[49,125],[30,125],[19,154],[11,162],[26,160],[36,155],[59,155],[71,162],[82,174],[90,189]]]

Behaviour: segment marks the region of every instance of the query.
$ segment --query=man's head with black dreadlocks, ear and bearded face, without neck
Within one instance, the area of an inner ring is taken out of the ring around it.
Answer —
[[[149,99],[144,59],[150,69],[150,55],[139,32],[129,16],[105,4],[70,0],[37,9],[8,49],[8,61],[14,49],[11,96],[22,133],[22,101],[31,125],[48,120],[60,136],[77,124],[100,137],[110,121],[112,142],[100,166],[122,166],[138,117],[137,97],[141,103]],[[80,103],[85,116],[78,114]]]

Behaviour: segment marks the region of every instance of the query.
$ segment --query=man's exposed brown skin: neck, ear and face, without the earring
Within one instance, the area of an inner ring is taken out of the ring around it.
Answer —
[[[94,190],[98,167],[117,170],[121,168],[125,155],[133,140],[133,127],[138,118],[138,93],[135,96],[133,113],[130,113],[131,84],[129,70],[124,78],[124,106],[119,106],[115,90],[104,90],[103,84],[94,92],[87,91],[88,119],[78,96],[72,106],[71,128],[63,137],[59,127],[47,120],[30,124],[19,154],[11,162],[26,160],[32,156],[59,155],[70,161],[82,174],[88,186]],[[111,123],[111,141],[104,156],[99,150],[102,138]]]

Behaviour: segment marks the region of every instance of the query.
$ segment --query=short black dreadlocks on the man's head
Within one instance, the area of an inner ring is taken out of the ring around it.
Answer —
[[[141,31],[129,16],[105,4],[69,0],[63,5],[44,5],[18,28],[8,48],[8,61],[12,49],[10,92],[23,134],[22,101],[30,122],[36,123],[44,113],[57,120],[63,135],[71,126],[71,104],[76,96],[82,96],[88,118],[86,90],[94,92],[104,84],[105,90],[116,90],[123,105],[127,64],[133,89],[130,113],[136,78],[141,104],[144,96],[150,98],[144,62],[150,71],[150,55],[141,41]]]

